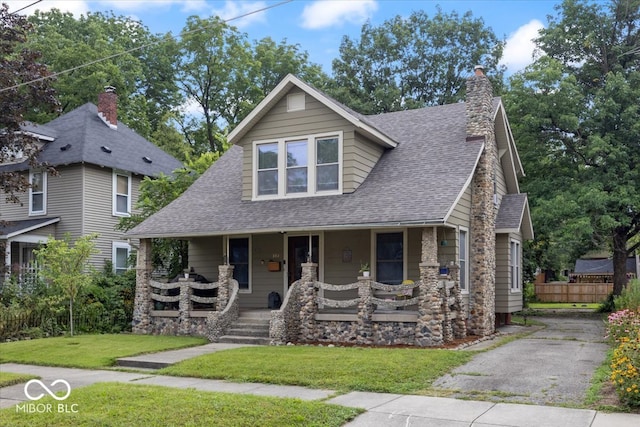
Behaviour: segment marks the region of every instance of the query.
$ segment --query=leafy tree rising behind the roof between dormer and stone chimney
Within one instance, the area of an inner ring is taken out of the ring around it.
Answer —
[[[438,8],[433,18],[419,11],[379,27],[366,23],[359,40],[342,39],[330,92],[366,114],[447,104],[464,98],[465,78],[476,64],[485,66],[499,91],[503,46],[471,12]]]

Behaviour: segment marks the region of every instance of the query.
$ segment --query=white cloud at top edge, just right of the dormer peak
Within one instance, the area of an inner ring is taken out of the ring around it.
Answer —
[[[315,1],[302,11],[302,27],[320,29],[340,27],[342,24],[363,24],[373,12],[378,10],[374,0]]]

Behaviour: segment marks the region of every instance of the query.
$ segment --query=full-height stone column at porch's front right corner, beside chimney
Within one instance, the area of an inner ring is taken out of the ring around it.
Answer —
[[[416,345],[442,344],[442,310],[438,290],[438,238],[436,227],[422,229],[422,255],[420,262],[420,294],[418,296],[418,321]]]

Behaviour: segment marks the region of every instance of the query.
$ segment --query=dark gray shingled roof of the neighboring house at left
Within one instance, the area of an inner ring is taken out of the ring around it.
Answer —
[[[183,166],[125,124],[118,123],[117,129],[108,127],[98,117],[98,109],[92,103],[86,103],[46,125],[28,123],[23,130],[45,137],[38,159],[54,167],[90,163],[157,176]],[[0,166],[0,170],[28,168],[28,162]]]

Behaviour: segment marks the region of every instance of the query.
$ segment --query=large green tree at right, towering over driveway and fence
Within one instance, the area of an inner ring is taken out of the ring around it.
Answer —
[[[547,227],[549,241],[574,257],[608,244],[619,294],[640,246],[629,243],[640,233],[640,0],[556,9],[537,39],[541,56],[511,79],[513,130],[533,166],[523,184],[534,221],[547,215],[574,231]]]

